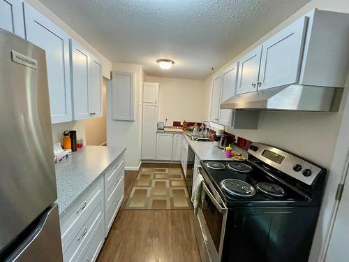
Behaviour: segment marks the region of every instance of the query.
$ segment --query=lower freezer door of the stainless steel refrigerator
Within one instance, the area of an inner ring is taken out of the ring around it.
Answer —
[[[63,261],[57,204],[42,215],[31,235],[5,261]]]

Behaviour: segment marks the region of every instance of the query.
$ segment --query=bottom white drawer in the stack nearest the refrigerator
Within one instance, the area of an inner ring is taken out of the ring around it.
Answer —
[[[91,238],[85,245],[77,261],[81,262],[94,262],[97,259],[99,252],[104,242],[104,230],[102,220],[96,226],[96,229],[91,234]]]

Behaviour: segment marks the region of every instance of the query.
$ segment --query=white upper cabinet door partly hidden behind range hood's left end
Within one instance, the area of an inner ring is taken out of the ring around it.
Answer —
[[[221,87],[221,103],[236,94],[236,83],[237,83],[237,68],[238,63],[235,62],[222,73],[222,87]],[[218,105],[219,106],[219,105]],[[231,109],[220,109],[218,124],[223,126],[232,125],[233,110]]]

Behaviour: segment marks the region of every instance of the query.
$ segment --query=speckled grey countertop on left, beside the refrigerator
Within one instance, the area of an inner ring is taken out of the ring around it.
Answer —
[[[55,164],[59,217],[125,150],[126,147],[85,145],[68,159]]]

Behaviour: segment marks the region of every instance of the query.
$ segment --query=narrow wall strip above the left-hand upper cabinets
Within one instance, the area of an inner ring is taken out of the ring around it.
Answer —
[[[98,59],[101,60],[102,63],[102,74],[105,78],[110,79],[110,71],[112,70],[112,62],[107,59],[101,52],[96,50],[92,45],[87,43],[87,41],[84,40],[77,32],[75,32],[71,27],[68,26],[63,20],[61,20],[57,15],[55,15],[52,10],[47,8],[43,5],[43,3],[40,3],[38,0],[24,0],[25,2],[29,3],[30,6],[34,7],[36,10],[38,10],[42,15],[47,17],[49,20],[54,22],[54,24],[57,24],[58,27],[66,31],[68,35],[70,35],[72,38],[74,38],[77,42],[84,45],[87,50],[89,50],[91,53],[93,53]]]

